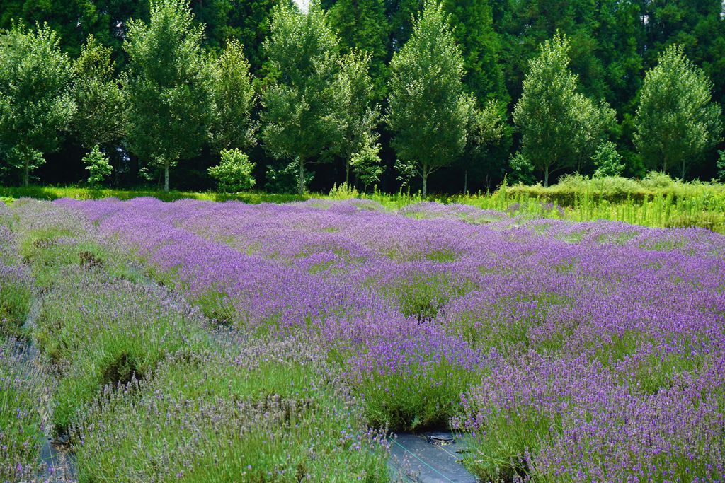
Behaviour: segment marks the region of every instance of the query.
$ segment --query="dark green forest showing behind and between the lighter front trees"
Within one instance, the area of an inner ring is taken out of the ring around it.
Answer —
[[[244,44],[259,88],[265,83],[265,58],[261,45],[269,30],[271,9],[284,0],[194,0],[190,2],[197,22],[205,29],[204,43],[218,52],[228,38]],[[322,0],[330,20],[338,30],[343,51],[359,48],[373,54],[371,75],[377,101],[385,107],[388,64],[411,32],[413,14],[421,9],[419,0]],[[626,160],[624,175],[640,177],[645,168],[631,146],[632,119],[644,72],[653,67],[658,52],[678,43],[689,59],[702,67],[713,82],[713,100],[725,99],[725,20],[721,0],[445,0],[452,15],[455,35],[463,50],[465,85],[479,100],[497,98],[513,109],[521,96],[521,85],[529,59],[539,44],[559,30],[571,41],[571,68],[579,75],[581,91],[605,99],[616,109],[620,132],[618,151]],[[34,25],[48,22],[62,38],[62,48],[77,56],[83,41],[93,34],[110,46],[118,70],[125,59],[123,40],[130,18],[146,19],[148,1],[127,0],[3,0],[0,1],[0,28],[10,28],[14,19]],[[389,148],[385,125],[381,133],[386,167],[380,190],[399,189],[393,169],[394,152]],[[467,160],[469,190],[495,188],[508,169],[510,155],[518,149],[514,132],[500,146],[481,159]],[[722,148],[722,146],[718,146]],[[82,182],[86,176],[81,158],[85,154],[72,138],[62,150],[47,155],[48,162],[36,171],[44,184]],[[115,172],[112,184],[130,187],[148,184],[138,175],[138,160],[123,148],[111,153]],[[249,151],[257,163],[257,186],[264,188],[270,159],[259,146]],[[718,150],[689,172],[689,177],[709,180],[716,174]],[[185,160],[174,169],[172,184],[179,189],[204,190],[214,183],[207,168],[218,162],[210,150]],[[473,168],[471,168],[473,167]],[[313,168],[310,190],[328,190],[344,180],[341,163]],[[562,173],[563,174],[563,173]],[[586,173],[585,173],[586,174]],[[159,182],[160,182],[159,175]],[[4,180],[10,182],[10,180]],[[416,180],[415,182],[419,182]],[[416,188],[415,182],[413,188]],[[463,164],[445,169],[431,179],[430,189],[439,192],[463,190]],[[154,186],[152,182],[152,186]]]

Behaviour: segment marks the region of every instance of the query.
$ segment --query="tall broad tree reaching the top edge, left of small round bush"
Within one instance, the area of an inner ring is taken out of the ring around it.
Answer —
[[[126,132],[130,151],[164,170],[168,191],[170,167],[195,156],[208,138],[211,73],[186,1],[152,1],[150,19],[130,22],[124,44]]]

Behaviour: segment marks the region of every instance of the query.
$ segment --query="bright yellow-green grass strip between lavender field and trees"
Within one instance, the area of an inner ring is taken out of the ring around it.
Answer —
[[[386,209],[401,209],[424,201],[419,194],[358,193],[344,185],[330,193],[308,193],[305,196],[281,193],[215,193],[157,190],[110,190],[76,187],[0,188],[0,199],[6,203],[17,198],[79,200],[115,197],[122,200],[150,196],[162,201],[195,199],[205,201],[242,201],[244,203],[287,203],[312,198],[360,198],[380,203]],[[651,173],[644,180],[621,177],[589,179],[564,177],[558,184],[502,185],[494,193],[432,195],[426,201],[460,203],[481,209],[504,211],[510,216],[568,219],[575,222],[607,219],[648,227],[702,227],[725,233],[725,185],[708,182],[681,182],[661,173]],[[412,216],[418,217],[418,214]],[[462,215],[471,222],[486,222],[487,217]]]

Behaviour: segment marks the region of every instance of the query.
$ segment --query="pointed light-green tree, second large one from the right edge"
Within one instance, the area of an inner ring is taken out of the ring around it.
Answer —
[[[521,154],[549,175],[581,167],[607,137],[614,112],[576,91],[577,77],[568,68],[569,42],[557,33],[544,41],[539,56],[529,63],[523,93],[513,110],[521,132]]]

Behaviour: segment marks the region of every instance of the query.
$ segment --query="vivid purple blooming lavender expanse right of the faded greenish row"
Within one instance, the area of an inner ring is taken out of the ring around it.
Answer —
[[[366,416],[486,479],[724,474],[725,239],[421,204],[60,201],[204,311],[304,333]]]

